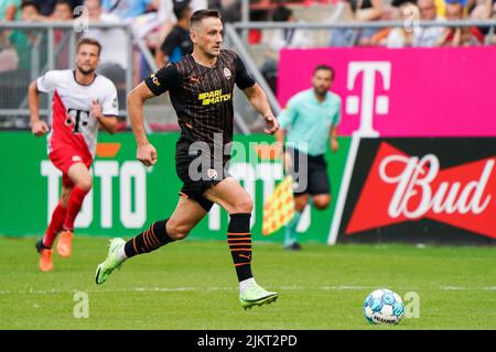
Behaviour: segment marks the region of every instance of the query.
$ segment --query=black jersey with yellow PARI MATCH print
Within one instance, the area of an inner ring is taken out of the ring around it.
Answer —
[[[148,77],[144,82],[155,95],[169,91],[177,113],[182,138],[214,145],[233,141],[233,90],[255,85],[239,56],[223,50],[214,66],[197,64],[186,55],[175,64],[168,64]],[[217,134],[217,135],[216,135]]]

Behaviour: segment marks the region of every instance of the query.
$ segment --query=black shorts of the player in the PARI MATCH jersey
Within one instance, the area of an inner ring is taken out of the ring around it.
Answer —
[[[203,194],[212,186],[229,177],[227,161],[216,161],[209,153],[198,152],[190,155],[191,142],[180,139],[175,151],[175,170],[183,182],[180,195],[195,200],[205,211],[209,211],[214,205]]]

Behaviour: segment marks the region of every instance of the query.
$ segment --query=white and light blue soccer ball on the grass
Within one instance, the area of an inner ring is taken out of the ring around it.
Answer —
[[[397,293],[380,288],[367,296],[364,311],[370,323],[399,323],[403,318],[405,307]]]

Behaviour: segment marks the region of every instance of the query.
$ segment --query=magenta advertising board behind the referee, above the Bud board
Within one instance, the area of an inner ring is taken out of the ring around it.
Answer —
[[[278,99],[311,87],[313,69],[336,70],[342,135],[495,136],[496,46],[283,50]]]

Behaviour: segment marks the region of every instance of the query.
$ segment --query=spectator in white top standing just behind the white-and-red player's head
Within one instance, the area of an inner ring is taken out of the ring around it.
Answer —
[[[104,12],[101,0],[85,0],[84,6],[88,9],[89,23],[120,23],[116,15]],[[128,68],[126,32],[121,29],[89,28],[83,36],[98,38],[101,44],[98,72],[120,88],[126,81]]]

